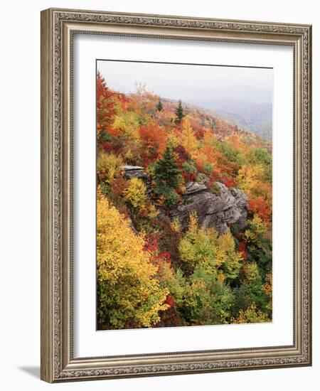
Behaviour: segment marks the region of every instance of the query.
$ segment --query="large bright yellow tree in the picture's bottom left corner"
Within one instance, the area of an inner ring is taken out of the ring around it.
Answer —
[[[144,236],[135,235],[127,220],[98,193],[97,199],[97,290],[98,323],[102,329],[150,327],[159,321],[159,311],[168,289],[156,279],[156,266],[143,250]]]

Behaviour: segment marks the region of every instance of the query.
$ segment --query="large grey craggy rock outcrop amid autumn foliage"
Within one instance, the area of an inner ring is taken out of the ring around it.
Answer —
[[[220,235],[228,229],[228,223],[235,223],[237,230],[242,230],[247,225],[247,195],[220,182],[215,182],[215,186],[217,191],[214,194],[204,184],[186,183],[183,202],[171,210],[171,217],[178,218],[186,229],[189,215],[194,210],[200,225],[214,227]]]

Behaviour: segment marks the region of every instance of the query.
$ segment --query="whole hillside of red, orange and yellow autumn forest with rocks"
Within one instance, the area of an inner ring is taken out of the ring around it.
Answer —
[[[272,320],[271,148],[97,74],[98,329]]]

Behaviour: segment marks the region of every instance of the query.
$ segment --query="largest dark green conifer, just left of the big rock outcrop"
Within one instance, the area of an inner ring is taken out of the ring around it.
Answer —
[[[179,185],[181,170],[174,161],[174,154],[166,148],[162,159],[156,162],[156,183],[159,187],[176,188]]]

